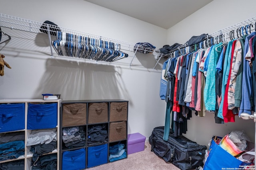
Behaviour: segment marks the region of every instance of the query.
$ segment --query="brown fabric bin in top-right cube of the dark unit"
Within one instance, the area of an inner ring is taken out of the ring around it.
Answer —
[[[110,121],[127,120],[127,102],[110,103]]]

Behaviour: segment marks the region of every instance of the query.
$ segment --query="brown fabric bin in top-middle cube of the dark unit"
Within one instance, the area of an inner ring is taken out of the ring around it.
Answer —
[[[108,121],[107,103],[89,103],[88,123],[100,123]]]

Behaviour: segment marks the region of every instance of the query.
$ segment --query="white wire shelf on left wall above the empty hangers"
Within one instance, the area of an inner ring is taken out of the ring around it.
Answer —
[[[42,25],[44,25],[45,27],[42,28],[41,27]],[[38,21],[27,20],[24,18],[10,16],[10,15],[6,15],[6,14],[0,14],[0,27],[6,27],[6,28],[16,29],[16,30],[20,30],[20,31],[26,31],[26,32],[30,32],[30,33],[41,33],[40,29],[46,31],[48,33],[51,56],[54,55],[54,50],[53,50],[52,43],[51,43],[52,39],[51,39],[50,34],[55,33],[55,35],[56,35],[56,31],[55,31],[56,26],[55,25],[45,24],[45,23],[38,22]],[[108,41],[111,43],[118,44],[120,47],[119,48],[120,50],[124,51],[124,53],[128,52],[128,56],[132,57],[130,59],[129,66],[132,66],[132,62],[134,61],[134,57],[136,57],[136,53],[137,53],[138,49],[140,49],[141,51],[144,51],[144,53],[148,53],[148,52],[153,53],[154,56],[157,56],[157,57],[159,57],[161,55],[160,52],[156,51],[155,49],[143,48],[141,45],[136,45],[136,43],[120,41],[120,40],[116,40],[116,39],[112,39],[112,38],[108,38],[108,37],[104,37],[104,36],[100,36],[100,35],[94,35],[94,34],[90,34],[90,33],[76,31],[74,29],[68,29],[68,28],[64,28],[64,27],[60,27],[60,26],[58,26],[58,28],[60,29],[60,31],[62,31],[64,33],[70,33],[70,34],[77,35],[77,36],[88,37],[90,39],[98,39],[98,40]],[[158,63],[158,61],[157,61],[157,63]]]

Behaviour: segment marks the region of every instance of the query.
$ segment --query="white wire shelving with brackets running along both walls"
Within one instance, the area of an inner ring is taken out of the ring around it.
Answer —
[[[30,32],[30,33],[40,33],[41,32],[40,29],[47,31],[49,44],[50,44],[50,50],[51,50],[51,56],[53,56],[54,50],[51,45],[52,39],[51,39],[50,33],[53,33],[53,32],[56,33],[56,31],[53,31],[56,27],[55,27],[55,25],[46,24],[47,29],[44,29],[44,28],[41,28],[41,26],[43,24],[44,23],[38,22],[38,21],[27,20],[27,19],[10,16],[10,15],[6,15],[6,14],[0,14],[0,26],[1,27],[16,29],[16,30],[20,30],[20,31],[26,31],[26,32]],[[185,43],[183,45],[180,45],[177,49],[170,51],[168,54],[163,54],[163,53],[160,53],[160,51],[158,49],[154,49],[153,51],[152,51],[152,49],[142,49],[142,46],[136,45],[136,43],[129,43],[129,42],[120,41],[120,40],[116,40],[116,39],[112,39],[112,38],[108,38],[108,37],[103,37],[100,35],[94,35],[94,34],[90,34],[90,33],[76,31],[74,29],[68,29],[68,28],[64,28],[64,27],[58,27],[58,28],[64,33],[70,33],[70,34],[88,37],[88,38],[92,38],[92,39],[99,39],[102,41],[108,41],[108,42],[112,42],[112,43],[120,45],[120,50],[122,50],[124,52],[128,52],[128,56],[131,57],[130,61],[128,62],[129,66],[132,66],[132,62],[134,61],[134,58],[136,57],[136,53],[137,53],[138,49],[144,51],[145,53],[152,52],[154,54],[154,56],[157,56],[156,64],[154,65],[154,68],[155,68],[162,57],[173,57],[175,51],[181,51],[182,49],[188,47],[188,44]],[[244,34],[247,31],[255,30],[255,28],[256,28],[256,16],[249,18],[247,20],[241,21],[239,23],[236,23],[234,25],[231,25],[229,27],[226,27],[224,29],[221,29],[219,31],[216,31],[214,33],[211,33],[211,34],[207,35],[206,38],[213,37],[214,41],[218,41],[218,37],[220,35],[223,35],[225,40],[228,41],[232,38],[237,37],[238,34],[240,34],[240,35]],[[134,48],[134,47],[137,47],[137,48]]]

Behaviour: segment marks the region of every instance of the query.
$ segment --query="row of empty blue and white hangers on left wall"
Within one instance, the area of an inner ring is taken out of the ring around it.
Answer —
[[[52,46],[58,55],[113,62],[128,57],[120,44],[57,31]]]

